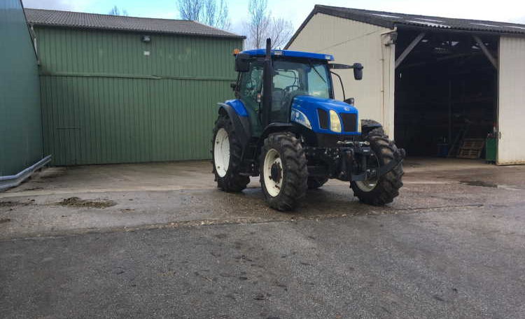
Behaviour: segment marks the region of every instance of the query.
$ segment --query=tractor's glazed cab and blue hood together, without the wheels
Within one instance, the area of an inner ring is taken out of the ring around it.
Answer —
[[[290,122],[313,129],[317,133],[356,134],[358,111],[351,105],[353,99],[335,101],[331,73],[332,69],[354,69],[356,79],[360,80],[363,66],[329,63],[334,59],[332,55],[271,50],[269,63],[266,62],[269,64],[267,73],[270,76],[266,76],[265,59],[265,50],[258,49],[240,52],[235,61],[239,76],[232,87],[237,99],[242,101],[246,111],[250,113],[254,136],[260,136],[262,130],[272,123]],[[265,90],[269,94],[265,94]],[[334,112],[345,125],[334,116]],[[308,114],[311,116],[307,116]],[[314,123],[309,121],[309,118],[318,116],[323,118]],[[331,127],[328,122],[332,122]]]

